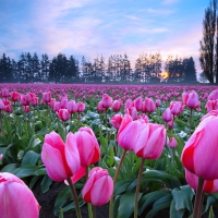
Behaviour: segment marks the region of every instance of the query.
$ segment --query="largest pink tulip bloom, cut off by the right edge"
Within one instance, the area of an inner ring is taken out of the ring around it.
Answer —
[[[202,120],[186,142],[181,160],[190,172],[204,180],[218,179],[218,117]]]

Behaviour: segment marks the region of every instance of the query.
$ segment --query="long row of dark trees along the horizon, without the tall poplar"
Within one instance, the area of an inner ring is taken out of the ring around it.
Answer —
[[[82,57],[59,53],[49,59],[44,53],[22,52],[15,61],[5,53],[0,58],[0,82],[19,83],[159,83],[195,82],[196,70],[192,57],[169,56],[162,68],[160,53],[142,53],[134,70],[126,53],[113,55],[106,61],[97,57],[93,62]]]

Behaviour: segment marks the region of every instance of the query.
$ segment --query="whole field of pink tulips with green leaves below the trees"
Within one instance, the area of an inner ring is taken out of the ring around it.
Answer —
[[[60,218],[216,217],[218,87],[0,84],[1,217],[39,217],[38,183]]]

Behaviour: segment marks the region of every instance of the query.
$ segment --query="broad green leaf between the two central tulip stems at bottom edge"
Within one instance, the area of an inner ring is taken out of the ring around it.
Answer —
[[[137,201],[142,197],[142,193],[138,193]],[[134,211],[135,192],[124,193],[120,198],[120,205],[118,208],[119,218],[128,218]]]

